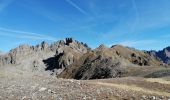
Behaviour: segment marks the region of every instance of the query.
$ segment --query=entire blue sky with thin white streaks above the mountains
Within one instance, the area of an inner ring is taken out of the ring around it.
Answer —
[[[0,50],[73,37],[95,48],[170,46],[170,0],[0,0]]]

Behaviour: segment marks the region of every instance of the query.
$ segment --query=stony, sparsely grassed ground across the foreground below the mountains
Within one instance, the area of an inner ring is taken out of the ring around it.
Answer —
[[[170,100],[169,78],[57,79],[0,73],[0,100]]]

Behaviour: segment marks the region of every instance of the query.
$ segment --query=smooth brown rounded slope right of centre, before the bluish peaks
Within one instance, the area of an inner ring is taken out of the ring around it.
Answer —
[[[162,65],[162,62],[159,59],[155,56],[151,56],[147,51],[123,47],[121,45],[115,45],[111,48],[116,50],[121,57],[129,60],[133,64],[137,64],[139,66]]]

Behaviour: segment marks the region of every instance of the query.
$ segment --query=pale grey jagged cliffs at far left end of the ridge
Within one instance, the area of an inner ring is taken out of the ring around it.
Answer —
[[[48,47],[45,48],[45,44],[37,45],[37,46],[29,46],[29,45],[21,45],[15,49],[12,49],[9,53],[4,56],[1,56],[0,64],[1,66],[6,65],[15,65],[19,64],[22,59],[27,59],[28,55],[34,55],[36,52],[40,52],[43,50],[47,50]]]

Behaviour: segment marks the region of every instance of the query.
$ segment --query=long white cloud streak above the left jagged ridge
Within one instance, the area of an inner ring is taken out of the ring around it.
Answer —
[[[20,30],[13,30],[0,27],[1,36],[9,36],[13,38],[22,38],[22,39],[32,39],[32,40],[49,40],[55,41],[56,38],[48,35],[43,35],[40,33],[25,32]]]

